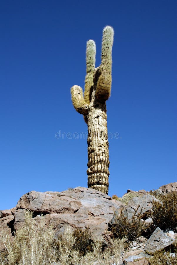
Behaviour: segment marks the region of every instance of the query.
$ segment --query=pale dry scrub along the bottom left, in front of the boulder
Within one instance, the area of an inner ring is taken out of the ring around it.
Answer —
[[[85,231],[68,228],[54,239],[54,231],[46,227],[41,216],[36,225],[32,212],[26,211],[25,224],[15,233],[1,237],[4,251],[0,254],[2,265],[46,265],[60,262],[62,265],[80,264],[119,264],[120,254],[125,245],[125,238],[110,239],[107,247],[103,242],[93,241],[88,228]]]

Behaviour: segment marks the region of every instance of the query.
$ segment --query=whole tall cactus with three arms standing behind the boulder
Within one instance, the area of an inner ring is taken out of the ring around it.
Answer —
[[[77,112],[88,125],[88,188],[108,194],[109,153],[106,100],[111,93],[113,28],[103,29],[101,65],[95,68],[96,46],[87,42],[84,96],[82,88],[71,87],[71,98]]]

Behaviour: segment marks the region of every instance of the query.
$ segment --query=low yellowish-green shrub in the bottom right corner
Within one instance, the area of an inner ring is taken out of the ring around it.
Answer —
[[[164,250],[156,251],[153,257],[149,260],[150,265],[176,265],[177,254],[164,252]]]

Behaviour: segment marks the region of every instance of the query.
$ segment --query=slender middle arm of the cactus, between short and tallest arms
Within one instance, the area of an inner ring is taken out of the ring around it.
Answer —
[[[93,40],[87,42],[86,47],[86,77],[85,77],[85,90],[84,100],[86,103],[91,101],[91,92],[93,90],[93,71],[95,69],[95,56],[96,56],[96,45]]]

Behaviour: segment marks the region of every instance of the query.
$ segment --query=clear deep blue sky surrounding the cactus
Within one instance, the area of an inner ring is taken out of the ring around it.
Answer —
[[[1,1],[0,209],[31,191],[87,187],[87,132],[70,88],[114,28],[109,195],[177,181],[177,2]],[[59,133],[71,133],[71,139]]]

